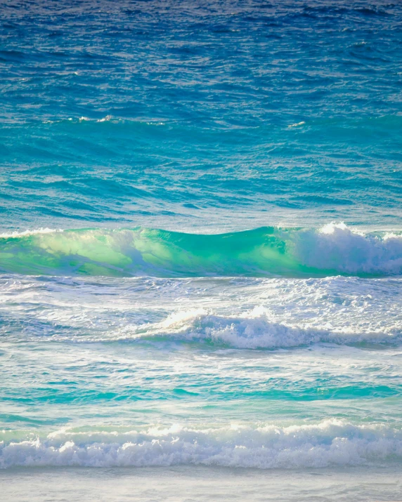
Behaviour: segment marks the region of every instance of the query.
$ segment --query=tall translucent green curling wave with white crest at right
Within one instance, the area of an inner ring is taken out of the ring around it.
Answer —
[[[262,227],[198,235],[133,230],[48,229],[0,236],[0,270],[30,275],[387,276],[402,272],[402,235]]]

